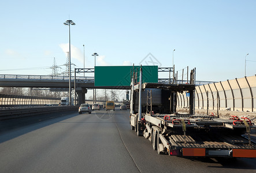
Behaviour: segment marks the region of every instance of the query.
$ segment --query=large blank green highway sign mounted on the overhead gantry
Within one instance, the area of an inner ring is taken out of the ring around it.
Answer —
[[[95,66],[95,86],[129,86],[133,66]],[[139,82],[140,66],[134,66],[138,72]],[[158,82],[158,66],[142,66],[143,82]]]

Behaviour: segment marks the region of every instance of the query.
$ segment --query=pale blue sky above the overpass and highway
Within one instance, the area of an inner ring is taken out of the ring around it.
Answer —
[[[256,1],[5,1],[1,5],[0,74],[51,74],[53,58],[83,67],[139,65],[151,53],[178,74],[225,81],[256,74]],[[175,51],[173,52],[173,50]],[[144,64],[143,64],[144,65]],[[59,72],[65,70],[61,66]],[[17,70],[18,69],[18,70]]]

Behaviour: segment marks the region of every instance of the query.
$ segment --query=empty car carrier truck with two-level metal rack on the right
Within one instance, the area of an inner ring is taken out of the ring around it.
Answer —
[[[189,84],[131,82],[130,125],[138,136],[149,139],[158,154],[196,157],[256,157],[250,130],[256,126],[246,117],[195,115],[195,69]],[[177,92],[189,93],[189,112],[176,111]],[[247,133],[247,138],[242,135]]]

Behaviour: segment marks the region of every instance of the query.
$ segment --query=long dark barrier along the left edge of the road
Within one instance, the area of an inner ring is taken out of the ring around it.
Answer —
[[[53,112],[78,111],[78,106],[49,106],[36,108],[15,108],[0,110],[0,120],[34,116],[39,114],[49,114]]]

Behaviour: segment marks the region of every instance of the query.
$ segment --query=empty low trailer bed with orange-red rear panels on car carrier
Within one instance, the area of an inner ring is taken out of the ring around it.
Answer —
[[[159,153],[256,157],[256,144],[242,136],[247,131],[243,121],[236,123],[233,119],[187,114],[146,114],[144,117],[143,136],[155,142]],[[255,126],[250,125],[250,128]]]

